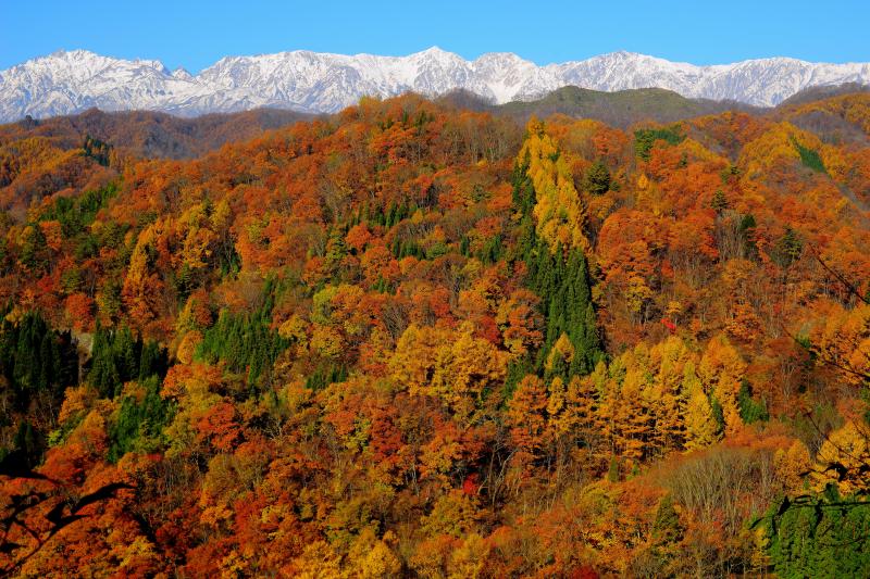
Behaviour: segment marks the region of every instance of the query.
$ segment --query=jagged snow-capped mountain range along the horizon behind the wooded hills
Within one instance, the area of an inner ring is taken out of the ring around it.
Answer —
[[[812,86],[870,84],[870,63],[775,58],[696,66],[631,52],[538,66],[512,53],[467,61],[431,48],[408,56],[353,56],[297,50],[227,56],[197,75],[153,60],[59,51],[0,71],[0,121],[47,117],[92,106],[183,116],[275,106],[332,113],[360,97],[456,89],[495,103],[531,100],[563,86],[614,91],[666,88],[684,97],[771,106]]]

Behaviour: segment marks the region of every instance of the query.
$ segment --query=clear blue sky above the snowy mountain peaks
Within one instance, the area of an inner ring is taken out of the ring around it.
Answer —
[[[538,64],[630,50],[696,64],[785,55],[870,61],[870,0],[589,2],[0,0],[0,68],[58,49],[161,60],[196,73],[228,54],[308,49]]]

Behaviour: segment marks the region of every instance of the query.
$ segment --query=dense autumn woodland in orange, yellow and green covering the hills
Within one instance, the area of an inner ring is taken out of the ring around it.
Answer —
[[[0,130],[0,575],[870,576],[870,95]]]

